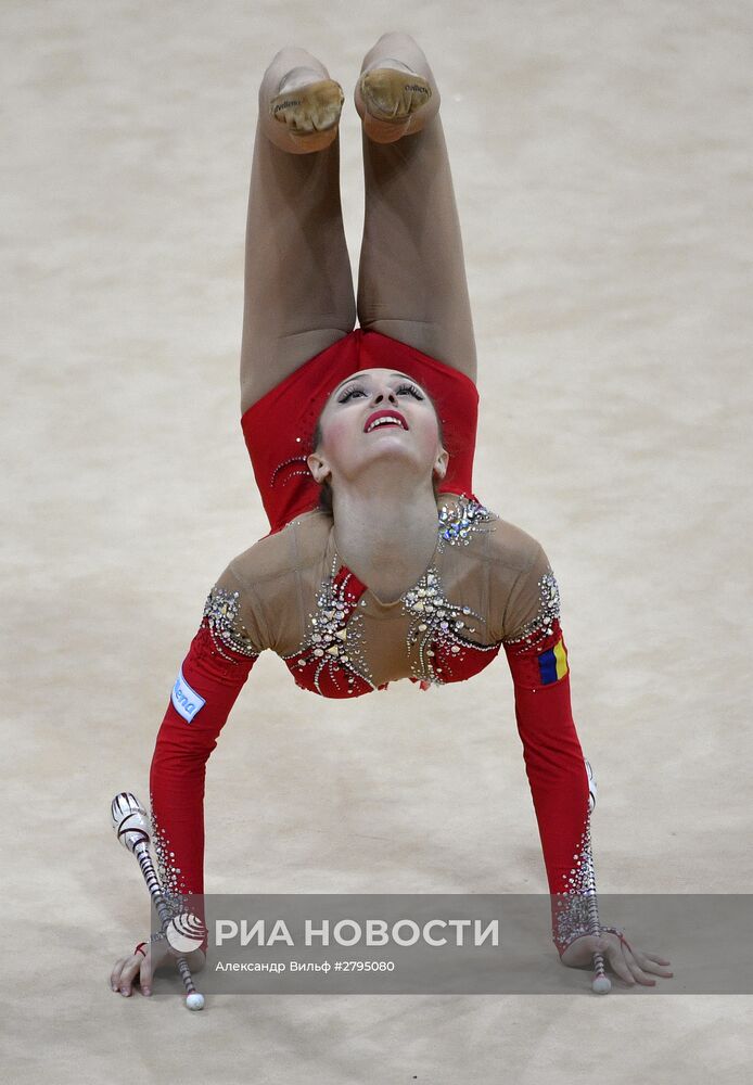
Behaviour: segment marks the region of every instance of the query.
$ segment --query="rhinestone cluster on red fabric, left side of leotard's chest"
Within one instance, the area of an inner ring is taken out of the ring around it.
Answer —
[[[303,649],[282,656],[283,660],[290,660],[303,651],[305,654],[297,661],[298,666],[316,664],[314,685],[318,693],[323,692],[319,681],[324,671],[336,689],[341,688],[339,671],[345,671],[348,675],[348,687],[355,685],[355,675],[372,689],[376,688],[360,647],[363,618],[355,609],[358,599],[350,587],[354,576],[346,572],[342,578],[335,577],[337,564],[335,552],[331,574],[317,593],[316,613],[308,615],[308,630]],[[353,689],[349,688],[348,692],[353,692]]]

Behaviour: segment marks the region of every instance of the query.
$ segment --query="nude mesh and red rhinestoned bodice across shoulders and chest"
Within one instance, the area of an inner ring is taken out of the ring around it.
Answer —
[[[225,608],[230,647],[270,649],[298,685],[339,697],[400,678],[426,685],[476,674],[539,612],[548,567],[531,535],[476,501],[443,495],[433,559],[395,601],[343,565],[332,518],[319,510],[233,559],[210,600]]]

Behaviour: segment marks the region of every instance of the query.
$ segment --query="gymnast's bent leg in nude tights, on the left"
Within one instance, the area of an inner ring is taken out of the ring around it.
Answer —
[[[340,202],[340,133],[324,145],[340,115],[336,91],[324,84],[303,120],[295,108],[306,88],[329,79],[311,53],[286,47],[273,56],[259,87],[246,224],[241,413],[356,322]],[[281,91],[286,93],[281,97]],[[282,120],[270,114],[273,100]]]

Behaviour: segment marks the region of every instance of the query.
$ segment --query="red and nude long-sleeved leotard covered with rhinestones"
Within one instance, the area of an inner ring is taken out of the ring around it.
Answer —
[[[396,344],[386,336],[380,340]],[[359,343],[362,347],[362,339],[356,337]],[[353,341],[345,345],[348,352],[353,347]],[[362,352],[348,353],[342,376],[330,374],[321,386],[331,391],[359,368],[395,366],[422,382],[451,422],[446,405],[451,408],[452,382],[464,410],[473,400],[471,382],[429,359],[435,370],[447,370],[444,385],[436,378],[432,383],[417,355],[400,343],[388,361],[374,360],[373,353],[368,360]],[[318,380],[321,358],[302,367],[312,369],[312,380]],[[305,378],[302,370],[296,371],[298,381]],[[310,411],[308,400],[303,401]],[[318,410],[314,422],[316,417]],[[447,419],[444,426],[446,444],[459,441],[451,424],[447,436]],[[301,434],[295,434],[298,427]],[[289,438],[305,434],[294,418]],[[299,444],[303,455],[307,446],[303,439]],[[278,442],[277,455],[284,450]],[[571,712],[559,591],[544,549],[473,497],[467,467],[464,477],[462,472],[454,476],[460,488],[437,501],[437,542],[429,566],[398,600],[385,601],[340,560],[332,518],[311,508],[317,487],[311,490],[304,475],[294,475],[291,490],[278,482],[281,472],[272,468],[265,475],[258,461],[255,469],[257,481],[271,480],[263,497],[272,529],[234,558],[209,591],[157,735],[150,791],[166,889],[181,897],[204,892],[206,762],[261,651],[278,654],[302,689],[353,698],[405,678],[422,689],[464,681],[502,648],[552,894],[552,935],[563,953],[587,932],[580,910],[562,908],[560,895],[585,892],[592,877],[589,786]],[[293,506],[297,511],[282,524]]]

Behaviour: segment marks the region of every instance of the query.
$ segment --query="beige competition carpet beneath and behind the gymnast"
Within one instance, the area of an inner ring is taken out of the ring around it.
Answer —
[[[746,0],[5,0],[3,1078],[55,1085],[741,1082],[748,996],[215,996],[109,987],[206,593],[266,531],[239,426],[264,67],[348,95],[412,34],[443,92],[480,356],[476,490],[557,573],[603,893],[753,892]],[[214,892],[544,891],[503,659],[355,704],[265,655],[209,762]],[[672,957],[671,946],[660,946]],[[580,975],[574,973],[576,978]],[[682,976],[659,986],[681,985]]]

